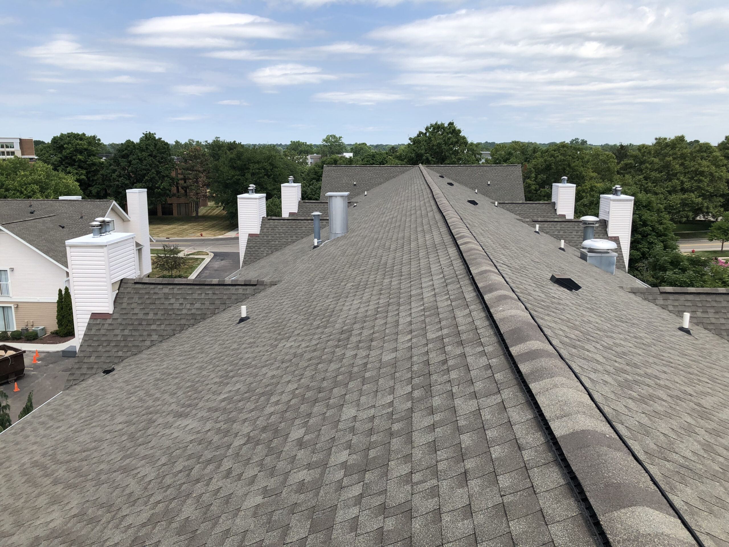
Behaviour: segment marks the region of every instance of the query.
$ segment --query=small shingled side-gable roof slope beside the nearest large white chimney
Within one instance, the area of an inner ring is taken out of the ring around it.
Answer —
[[[235,306],[271,282],[122,279],[108,318],[90,319],[66,388]]]

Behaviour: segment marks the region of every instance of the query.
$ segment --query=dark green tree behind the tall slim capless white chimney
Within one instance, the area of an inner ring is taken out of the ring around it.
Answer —
[[[125,141],[104,166],[104,180],[117,203],[126,203],[126,190],[147,188],[149,206],[166,203],[176,182],[170,145],[155,133],[144,133],[139,142]]]

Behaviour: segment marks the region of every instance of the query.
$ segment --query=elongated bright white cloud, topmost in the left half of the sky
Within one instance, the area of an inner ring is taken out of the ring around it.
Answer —
[[[289,39],[297,26],[247,13],[199,13],[141,20],[133,43],[156,47],[231,47],[241,40]]]

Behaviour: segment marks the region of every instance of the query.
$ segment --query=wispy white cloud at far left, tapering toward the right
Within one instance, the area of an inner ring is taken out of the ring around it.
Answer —
[[[36,58],[42,63],[60,66],[70,70],[124,70],[141,72],[163,72],[165,64],[131,56],[107,55],[86,50],[74,42],[71,36],[59,36],[47,44],[23,50],[20,55]]]

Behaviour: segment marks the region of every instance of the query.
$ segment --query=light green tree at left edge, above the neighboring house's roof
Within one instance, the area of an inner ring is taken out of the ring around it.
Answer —
[[[26,158],[0,160],[0,199],[58,199],[59,195],[81,195],[71,175]]]

